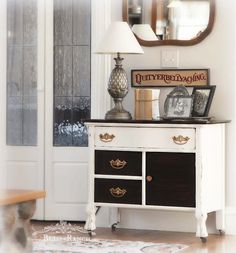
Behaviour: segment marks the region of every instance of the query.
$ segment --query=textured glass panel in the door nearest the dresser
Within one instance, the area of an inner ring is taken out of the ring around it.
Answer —
[[[54,1],[54,146],[87,146],[90,1]]]

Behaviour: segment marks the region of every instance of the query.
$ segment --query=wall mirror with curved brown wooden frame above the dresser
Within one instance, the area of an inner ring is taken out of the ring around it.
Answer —
[[[195,45],[214,17],[215,0],[123,0],[123,20],[143,46]]]

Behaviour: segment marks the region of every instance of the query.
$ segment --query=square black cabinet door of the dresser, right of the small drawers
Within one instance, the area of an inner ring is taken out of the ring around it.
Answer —
[[[195,154],[147,153],[146,204],[195,207]]]

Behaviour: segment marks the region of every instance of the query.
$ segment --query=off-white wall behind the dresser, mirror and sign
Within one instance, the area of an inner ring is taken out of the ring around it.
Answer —
[[[122,19],[122,0],[112,2],[112,19]],[[180,68],[209,68],[210,84],[216,85],[216,93],[210,115],[219,119],[232,120],[226,133],[226,232],[236,234],[236,160],[235,157],[235,119],[236,119],[236,1],[216,0],[216,18],[212,33],[200,44],[189,47],[158,46],[143,47],[144,55],[125,55],[124,67],[130,77],[135,68],[160,68],[161,51],[174,49],[179,51]],[[161,90],[160,106],[167,88]],[[125,98],[124,106],[133,112],[134,94],[132,88]],[[150,228],[162,230],[194,231],[194,215],[149,211],[122,212],[122,226],[131,228]],[[174,218],[173,218],[174,217]],[[185,222],[183,225],[182,221]],[[131,218],[131,219],[129,219]],[[179,222],[178,222],[179,220]],[[153,222],[154,221],[154,222]],[[188,224],[188,225],[187,225]],[[212,217],[209,219],[210,231],[214,231]]]

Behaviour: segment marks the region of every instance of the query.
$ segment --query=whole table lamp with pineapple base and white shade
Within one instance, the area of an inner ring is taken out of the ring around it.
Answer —
[[[131,119],[131,114],[124,110],[122,100],[128,93],[128,79],[122,68],[120,54],[143,54],[143,50],[136,40],[127,22],[112,23],[100,42],[96,53],[117,54],[114,58],[116,65],[112,70],[108,92],[112,96],[115,107],[106,113],[106,119]]]

